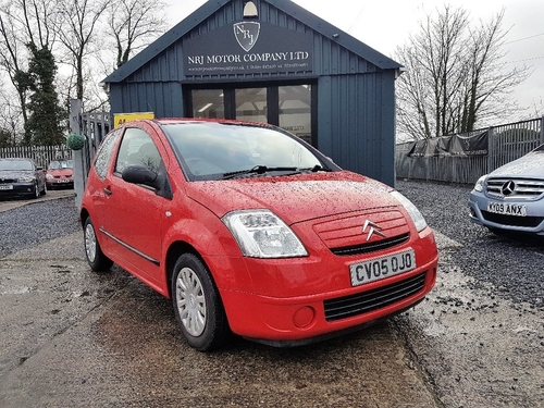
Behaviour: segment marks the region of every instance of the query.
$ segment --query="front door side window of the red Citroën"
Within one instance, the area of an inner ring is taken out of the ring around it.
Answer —
[[[161,164],[159,150],[151,137],[137,127],[127,127],[119,148],[115,173],[121,174],[127,165],[145,165],[158,173]]]

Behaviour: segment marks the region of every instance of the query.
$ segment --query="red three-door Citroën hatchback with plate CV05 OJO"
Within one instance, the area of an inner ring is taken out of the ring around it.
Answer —
[[[431,290],[417,208],[287,132],[150,120],[107,135],[81,207],[95,271],[113,262],[172,298],[190,346],[231,333],[293,346],[363,327]]]

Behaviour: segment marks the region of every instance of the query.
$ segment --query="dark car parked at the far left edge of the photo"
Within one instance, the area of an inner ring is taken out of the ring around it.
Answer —
[[[0,159],[0,198],[38,198],[46,193],[46,174],[34,160],[26,158]]]

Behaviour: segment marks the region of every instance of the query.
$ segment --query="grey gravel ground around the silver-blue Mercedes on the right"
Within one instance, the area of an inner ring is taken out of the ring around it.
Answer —
[[[442,256],[474,277],[475,287],[491,283],[498,289],[497,296],[544,309],[544,239],[498,236],[472,223],[467,205],[472,186],[397,181],[396,188],[419,208],[433,230],[461,244]]]

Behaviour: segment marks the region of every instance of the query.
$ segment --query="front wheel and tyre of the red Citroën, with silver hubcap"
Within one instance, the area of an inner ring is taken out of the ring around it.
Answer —
[[[172,276],[172,302],[189,346],[210,351],[223,346],[231,334],[219,290],[203,262],[182,255]]]

